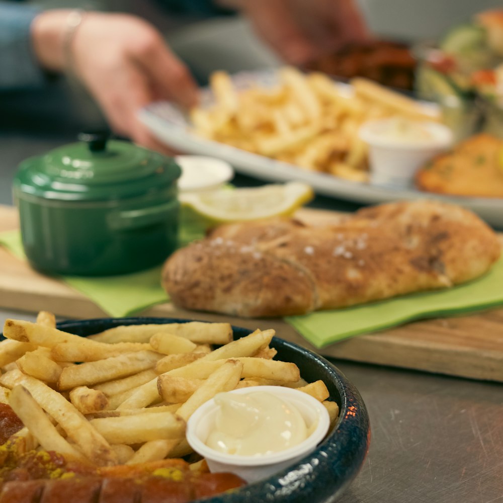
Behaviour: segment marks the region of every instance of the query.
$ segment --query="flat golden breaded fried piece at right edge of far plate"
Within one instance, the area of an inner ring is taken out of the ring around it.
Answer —
[[[441,194],[503,197],[503,141],[479,134],[461,142],[420,169],[416,185]]]

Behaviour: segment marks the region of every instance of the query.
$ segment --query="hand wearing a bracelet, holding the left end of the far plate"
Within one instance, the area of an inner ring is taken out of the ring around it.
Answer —
[[[33,45],[42,66],[77,76],[114,132],[162,149],[137,112],[158,99],[194,105],[197,87],[186,66],[151,25],[125,14],[86,13],[65,48],[69,13],[46,11],[35,18]]]

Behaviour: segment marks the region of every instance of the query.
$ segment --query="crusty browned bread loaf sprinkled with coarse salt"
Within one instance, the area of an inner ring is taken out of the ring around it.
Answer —
[[[337,225],[221,226],[168,259],[162,283],[188,309],[284,316],[450,287],[488,271],[499,254],[496,234],[470,211],[400,202]]]

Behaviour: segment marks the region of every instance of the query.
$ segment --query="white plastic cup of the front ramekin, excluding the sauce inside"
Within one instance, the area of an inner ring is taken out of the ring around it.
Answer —
[[[247,394],[257,391],[264,391],[278,398],[289,400],[298,408],[307,427],[317,422],[316,428],[300,444],[272,454],[241,456],[218,452],[205,443],[218,411],[215,400],[208,400],[189,418],[186,436],[190,446],[206,459],[211,472],[231,472],[247,482],[255,482],[267,478],[308,455],[326,435],[330,420],[325,406],[303,391],[283,386],[252,386],[235,389],[229,393]]]

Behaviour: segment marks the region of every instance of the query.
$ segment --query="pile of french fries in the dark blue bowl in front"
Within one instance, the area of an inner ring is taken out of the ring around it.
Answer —
[[[51,313],[40,312],[36,323],[8,319],[0,402],[21,418],[25,428],[16,437],[27,450],[94,466],[191,454],[187,420],[235,388],[296,387],[334,420],[339,409],[322,381],[308,384],[295,364],[273,360],[273,334],[256,330],[233,341],[230,324],[194,321],[117,326],[81,338],[56,329]]]

